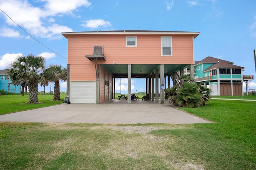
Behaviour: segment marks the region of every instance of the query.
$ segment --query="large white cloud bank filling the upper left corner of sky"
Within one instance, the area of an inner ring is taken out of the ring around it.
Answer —
[[[61,37],[61,32],[70,32],[72,29],[54,23],[56,21],[54,17],[70,15],[78,7],[88,7],[91,5],[88,0],[38,0],[34,3],[42,2],[45,3],[42,8],[32,6],[28,0],[1,0],[0,6],[12,20],[28,31],[28,33],[36,37],[59,38]],[[18,28],[6,15],[3,13],[0,15],[4,16],[5,22],[10,27],[13,27],[12,29],[14,27]],[[16,32],[10,32],[10,30],[11,28],[9,28],[9,33],[12,33],[11,35]],[[15,35],[14,37],[18,37],[18,33]],[[3,34],[1,33],[0,36],[3,36]]]

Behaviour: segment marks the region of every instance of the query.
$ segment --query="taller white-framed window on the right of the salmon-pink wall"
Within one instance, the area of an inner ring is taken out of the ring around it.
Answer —
[[[161,36],[161,56],[172,56],[172,36]]]

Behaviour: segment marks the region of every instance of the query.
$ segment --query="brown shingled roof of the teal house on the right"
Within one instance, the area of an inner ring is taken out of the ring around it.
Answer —
[[[212,66],[203,70],[203,72],[213,70],[213,69],[216,69],[216,68],[244,68],[244,67],[241,67],[241,66],[234,65],[233,62],[222,60],[222,59],[217,59],[217,58],[214,58],[214,57],[206,57],[206,58],[202,59],[201,61],[195,61],[195,66],[198,65],[198,64],[203,64],[203,63],[213,64]]]

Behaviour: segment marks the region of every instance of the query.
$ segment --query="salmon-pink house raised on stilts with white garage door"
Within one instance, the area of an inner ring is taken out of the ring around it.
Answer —
[[[145,78],[146,93],[154,100],[151,94],[156,89],[163,104],[164,88],[170,85],[170,78],[190,65],[194,69],[194,38],[199,34],[143,30],[62,33],[68,40],[70,102],[100,104],[111,100],[115,78],[128,78],[131,104],[131,78]],[[158,98],[155,100],[158,102]]]

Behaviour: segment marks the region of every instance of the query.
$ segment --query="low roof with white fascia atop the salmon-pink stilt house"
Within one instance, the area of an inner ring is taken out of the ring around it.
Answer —
[[[68,35],[105,35],[105,34],[179,34],[193,35],[196,38],[200,32],[188,31],[151,31],[151,30],[114,30],[114,31],[82,31],[82,32],[62,32],[62,35],[68,38]]]

